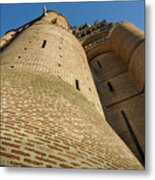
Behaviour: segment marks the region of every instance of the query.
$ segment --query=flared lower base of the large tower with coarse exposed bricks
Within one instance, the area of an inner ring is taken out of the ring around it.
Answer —
[[[74,87],[49,74],[3,68],[1,165],[142,169]]]

